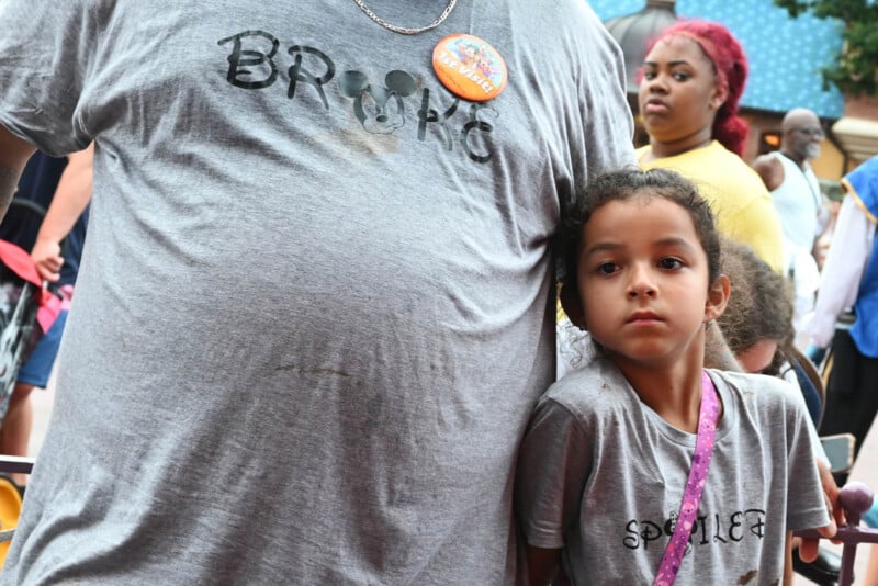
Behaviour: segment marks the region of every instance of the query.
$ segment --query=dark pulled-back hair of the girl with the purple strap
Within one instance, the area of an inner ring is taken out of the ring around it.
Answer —
[[[583,241],[583,228],[603,205],[614,201],[650,200],[664,198],[689,212],[699,241],[707,255],[709,286],[720,275],[720,237],[713,212],[698,193],[695,183],[675,171],[651,169],[641,171],[626,168],[589,181],[585,191],[567,210],[561,222],[561,256],[564,288],[571,288],[578,297],[577,269]]]

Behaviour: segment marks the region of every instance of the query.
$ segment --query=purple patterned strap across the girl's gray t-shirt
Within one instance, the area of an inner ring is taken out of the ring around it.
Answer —
[[[662,564],[658,566],[658,575],[655,576],[653,586],[669,586],[677,577],[679,564],[693,532],[695,516],[698,515],[698,503],[701,500],[701,492],[705,489],[710,459],[713,455],[713,439],[717,437],[719,414],[720,403],[717,398],[717,390],[707,372],[702,371],[701,408],[698,414],[698,437],[695,440],[693,465],[689,469],[686,491],[683,493],[679,516],[674,525],[674,534],[671,536],[671,541],[667,542],[665,553],[662,555]]]

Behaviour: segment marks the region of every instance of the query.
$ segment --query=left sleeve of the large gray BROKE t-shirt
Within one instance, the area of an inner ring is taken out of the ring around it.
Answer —
[[[104,7],[112,2],[0,2],[0,124],[49,155],[90,142],[77,106]]]

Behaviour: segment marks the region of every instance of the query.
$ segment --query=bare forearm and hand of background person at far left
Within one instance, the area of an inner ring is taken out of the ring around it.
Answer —
[[[60,279],[61,240],[70,233],[76,221],[82,215],[91,201],[92,162],[94,145],[68,157],[52,204],[40,225],[31,257],[36,263],[40,275],[48,282]]]

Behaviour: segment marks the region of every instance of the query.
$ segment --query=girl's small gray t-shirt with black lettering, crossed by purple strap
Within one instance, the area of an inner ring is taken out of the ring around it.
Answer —
[[[829,523],[807,413],[772,376],[709,371],[722,401],[678,584],[779,584],[786,531]],[[641,403],[607,359],[540,398],[516,506],[528,543],[562,548],[574,584],[651,584],[673,532],[696,436]]]

